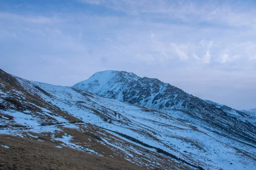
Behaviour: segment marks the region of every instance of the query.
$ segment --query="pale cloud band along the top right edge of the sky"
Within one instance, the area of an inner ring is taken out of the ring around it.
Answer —
[[[256,26],[253,16],[256,11],[255,2],[228,0],[79,0],[82,3],[90,3],[106,6],[116,11],[125,11],[128,14],[166,14],[168,18],[179,19],[183,22],[193,23],[218,23],[227,26]],[[247,6],[244,6],[247,4]],[[244,6],[246,10],[241,10]],[[249,7],[248,7],[249,6]],[[252,6],[252,7],[250,7]]]

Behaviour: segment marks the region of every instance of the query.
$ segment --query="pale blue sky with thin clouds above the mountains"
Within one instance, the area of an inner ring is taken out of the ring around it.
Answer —
[[[71,86],[119,70],[256,108],[255,0],[0,0],[0,68]]]

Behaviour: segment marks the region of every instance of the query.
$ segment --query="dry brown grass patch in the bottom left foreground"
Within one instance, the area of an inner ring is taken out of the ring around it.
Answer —
[[[125,159],[97,156],[57,148],[54,142],[40,142],[20,136],[0,135],[0,170],[143,170]]]

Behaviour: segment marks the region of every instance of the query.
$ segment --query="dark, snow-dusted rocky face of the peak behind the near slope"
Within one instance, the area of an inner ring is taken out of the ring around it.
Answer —
[[[248,116],[244,112],[200,99],[158,79],[141,78],[125,71],[114,71],[114,74],[115,76],[101,85],[101,88],[92,87],[98,80],[90,82],[90,78],[86,80],[87,85],[73,87],[99,96],[152,108],[192,126],[230,139],[243,139],[256,145],[256,126],[244,120],[244,117]],[[99,76],[99,79],[101,78],[104,77]],[[173,115],[173,110],[180,111],[180,114]]]

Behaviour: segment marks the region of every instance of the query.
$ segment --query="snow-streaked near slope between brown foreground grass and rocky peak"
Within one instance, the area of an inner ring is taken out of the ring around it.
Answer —
[[[148,169],[253,170],[256,166],[253,142],[207,134],[170,116],[171,112],[30,82],[3,71],[0,101],[0,133],[50,138],[62,146],[122,157]],[[184,112],[172,111],[172,115]]]

